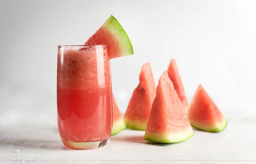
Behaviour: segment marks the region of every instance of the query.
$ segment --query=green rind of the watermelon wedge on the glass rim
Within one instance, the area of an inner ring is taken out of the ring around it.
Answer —
[[[134,54],[130,38],[113,15],[105,21],[103,26],[107,28],[119,41],[120,48],[122,49],[122,56]]]

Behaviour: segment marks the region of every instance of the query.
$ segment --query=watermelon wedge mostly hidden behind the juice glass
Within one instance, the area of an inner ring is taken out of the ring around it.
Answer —
[[[121,132],[125,128],[126,128],[125,121],[122,117],[119,107],[116,104],[116,99],[113,96],[113,127],[112,127],[111,135],[115,135]]]

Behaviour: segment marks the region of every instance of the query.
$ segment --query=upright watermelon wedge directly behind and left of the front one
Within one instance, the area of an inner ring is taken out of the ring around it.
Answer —
[[[140,83],[132,94],[125,112],[125,124],[130,129],[145,130],[150,110],[156,96],[156,86],[150,63],[145,63],[140,72]]]

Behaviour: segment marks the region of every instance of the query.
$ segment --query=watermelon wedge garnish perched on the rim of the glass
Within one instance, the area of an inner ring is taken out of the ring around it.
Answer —
[[[84,44],[107,45],[110,59],[134,54],[128,35],[113,15]]]

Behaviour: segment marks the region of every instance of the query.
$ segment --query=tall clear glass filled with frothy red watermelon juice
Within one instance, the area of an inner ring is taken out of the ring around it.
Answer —
[[[108,143],[112,88],[106,46],[58,46],[57,107],[66,147],[87,150]]]

